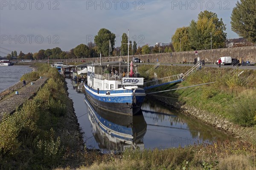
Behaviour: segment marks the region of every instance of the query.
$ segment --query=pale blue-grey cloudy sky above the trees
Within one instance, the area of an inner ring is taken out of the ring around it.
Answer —
[[[94,42],[99,29],[123,33],[137,46],[170,43],[177,28],[189,26],[201,11],[215,12],[231,30],[236,0],[0,0],[0,55],[59,47],[69,51]],[[129,31],[128,31],[129,29]]]

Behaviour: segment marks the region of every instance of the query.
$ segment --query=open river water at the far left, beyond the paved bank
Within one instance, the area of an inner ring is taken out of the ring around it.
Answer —
[[[31,71],[29,66],[0,66],[0,92],[17,84],[22,75]]]

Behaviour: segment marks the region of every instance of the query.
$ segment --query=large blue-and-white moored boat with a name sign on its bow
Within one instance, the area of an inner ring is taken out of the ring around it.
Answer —
[[[123,61],[88,65],[87,84],[84,84],[86,98],[93,107],[124,115],[136,115],[140,112],[146,95],[142,88],[143,78],[128,75],[128,63]]]

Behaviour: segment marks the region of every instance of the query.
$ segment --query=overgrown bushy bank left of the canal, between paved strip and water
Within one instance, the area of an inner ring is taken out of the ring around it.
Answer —
[[[73,106],[64,78],[43,64],[21,80],[35,81],[39,75],[49,78],[47,84],[0,122],[0,169],[75,167],[80,162],[81,134],[76,122],[71,122],[76,118],[68,114]]]

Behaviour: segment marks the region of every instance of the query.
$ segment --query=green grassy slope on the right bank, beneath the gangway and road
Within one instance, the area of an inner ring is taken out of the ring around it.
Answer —
[[[142,66],[141,70],[141,72],[145,72],[143,70],[147,70],[147,67]],[[155,71],[157,75],[166,77],[168,75],[186,72],[186,70],[188,70],[187,67],[161,66]],[[153,75],[150,76],[152,77]],[[205,110],[214,115],[220,115],[241,126],[253,127],[256,125],[255,70],[204,67],[200,71],[189,75],[183,83],[162,86],[151,89],[151,91],[192,86],[208,82],[215,83],[158,93],[157,95],[178,98],[178,101],[182,104]]]

